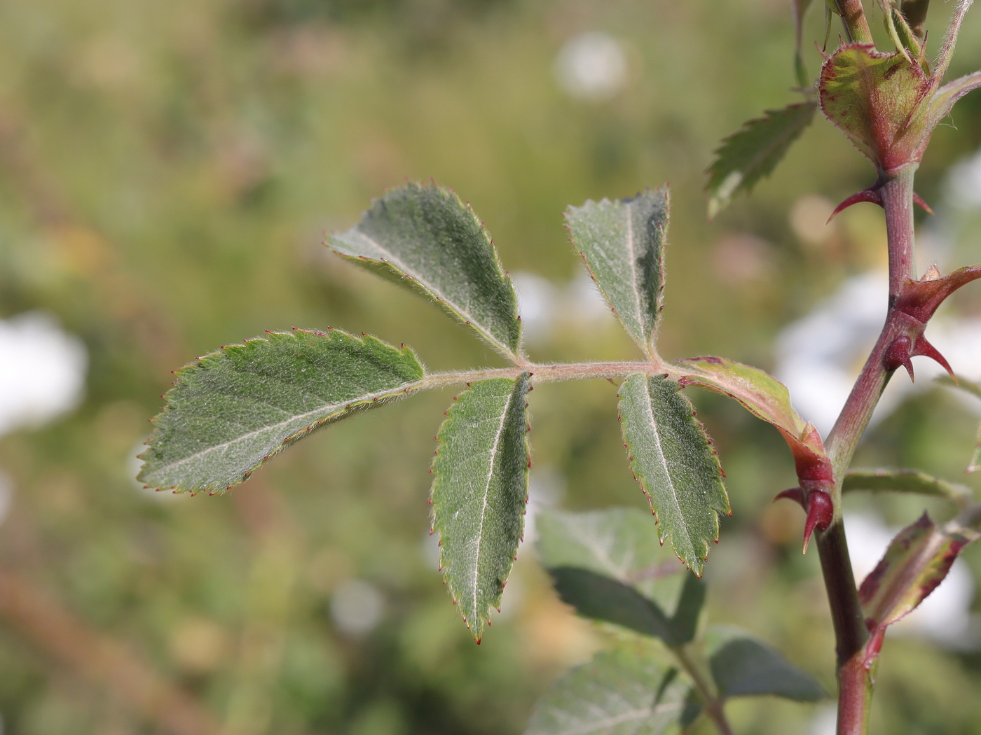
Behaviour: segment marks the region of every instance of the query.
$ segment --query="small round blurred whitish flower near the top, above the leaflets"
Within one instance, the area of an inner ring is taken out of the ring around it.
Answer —
[[[613,36],[590,31],[573,36],[559,49],[555,76],[573,97],[609,99],[627,80],[627,55]]]

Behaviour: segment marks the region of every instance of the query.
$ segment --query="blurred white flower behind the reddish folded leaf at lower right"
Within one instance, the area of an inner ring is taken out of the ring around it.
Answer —
[[[861,583],[879,564],[900,530],[888,527],[878,515],[845,514],[845,534],[855,581]],[[916,610],[891,625],[889,632],[925,635],[949,648],[971,648],[977,644],[970,612],[973,600],[974,578],[966,564],[958,559],[940,586]]]

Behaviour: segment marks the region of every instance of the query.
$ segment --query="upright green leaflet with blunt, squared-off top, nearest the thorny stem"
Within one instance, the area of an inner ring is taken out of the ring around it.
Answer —
[[[572,243],[627,333],[653,355],[664,289],[667,189],[589,201],[565,212]]]

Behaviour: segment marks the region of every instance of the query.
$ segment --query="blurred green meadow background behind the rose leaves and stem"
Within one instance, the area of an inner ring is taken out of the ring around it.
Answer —
[[[589,308],[561,213],[669,180],[663,354],[773,368],[781,327],[885,260],[874,208],[820,222],[873,177],[823,120],[751,198],[705,219],[703,170],[718,140],[797,97],[789,5],[0,3],[0,319],[52,315],[88,354],[76,409],[0,436],[11,496],[0,520],[0,731],[521,732],[537,697],[603,633],[557,601],[529,543],[503,613],[473,644],[427,533],[432,438],[451,393],[332,426],[215,498],[135,483],[146,420],[172,369],[267,328],[369,331],[436,369],[495,364],[438,310],[321,244],[406,177],[432,176],[470,201],[519,285],[567,295],[564,318],[530,344],[542,361],[636,357]],[[935,6],[931,37],[949,10]],[[820,16],[804,34],[811,73]],[[587,32],[615,40],[622,68],[577,90],[562,64]],[[975,15],[954,72],[976,68],[979,50]],[[946,172],[981,145],[981,95],[954,118],[918,177],[938,211]],[[958,217],[946,220],[962,256],[952,266],[979,253],[970,215]],[[981,315],[977,289],[957,308]],[[534,393],[534,503],[644,506],[615,393],[605,382]],[[707,566],[709,614],[833,689],[815,553],[800,555],[800,510],[770,505],[795,484],[782,441],[738,407],[693,398],[734,510]],[[918,394],[858,464],[960,478],[976,422],[953,395]],[[852,505],[892,524],[922,508]],[[981,570],[979,549],[964,557]],[[825,732],[821,706],[761,699],[730,711],[741,734]],[[891,638],[873,732],[981,733],[981,654]]]

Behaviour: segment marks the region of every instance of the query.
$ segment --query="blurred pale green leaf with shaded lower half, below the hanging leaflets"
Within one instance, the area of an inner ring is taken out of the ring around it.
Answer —
[[[649,514],[544,511],[537,527],[542,565],[578,613],[670,645],[695,637],[705,585],[661,547]]]

